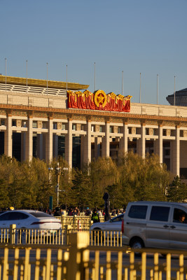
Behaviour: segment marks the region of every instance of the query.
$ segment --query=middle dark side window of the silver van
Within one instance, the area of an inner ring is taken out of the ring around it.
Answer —
[[[169,218],[170,207],[153,206],[151,209],[151,221],[167,222]]]

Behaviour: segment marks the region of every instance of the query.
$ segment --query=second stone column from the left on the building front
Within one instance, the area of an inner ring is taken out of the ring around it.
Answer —
[[[25,144],[25,160],[32,160],[33,155],[33,139],[32,139],[32,115],[28,116],[26,144]]]

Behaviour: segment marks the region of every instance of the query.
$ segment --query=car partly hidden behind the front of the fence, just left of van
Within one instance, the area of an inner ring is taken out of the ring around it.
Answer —
[[[90,230],[102,230],[102,231],[118,231],[121,230],[121,224],[123,221],[123,215],[120,214],[119,216],[116,216],[112,218],[111,220],[104,222],[104,223],[93,223],[90,227]]]

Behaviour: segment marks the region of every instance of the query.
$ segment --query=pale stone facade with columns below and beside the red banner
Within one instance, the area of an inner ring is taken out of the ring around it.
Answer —
[[[144,158],[148,152],[158,154],[160,164],[165,162],[174,175],[180,176],[180,170],[187,174],[185,107],[131,103],[130,113],[68,109],[65,96],[1,89],[0,104],[0,130],[8,156],[12,157],[13,132],[23,135],[22,160],[32,159],[33,137],[37,137],[39,158],[50,162],[58,156],[54,141],[63,136],[64,158],[71,168],[73,138],[79,137],[82,166],[98,156],[118,158],[134,151]]]

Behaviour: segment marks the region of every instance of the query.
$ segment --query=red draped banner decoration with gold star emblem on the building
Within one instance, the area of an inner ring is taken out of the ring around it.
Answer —
[[[68,90],[68,108],[90,109],[102,111],[130,112],[130,99],[132,96],[124,97],[113,92],[106,94],[103,90],[97,92],[71,92]]]

